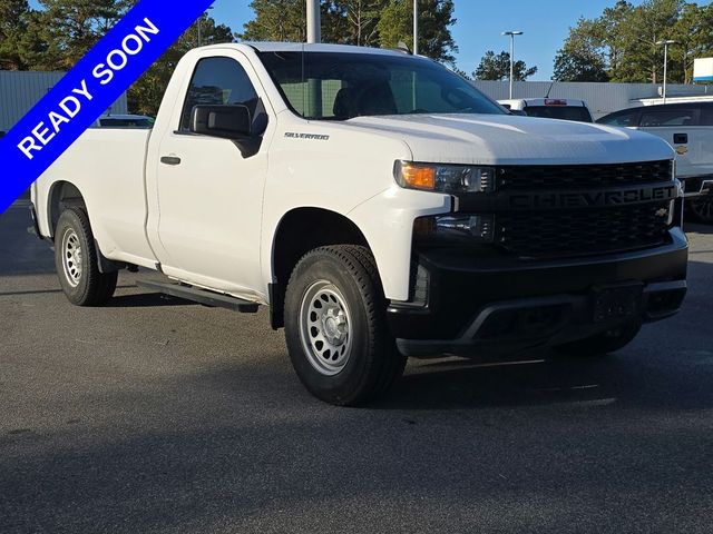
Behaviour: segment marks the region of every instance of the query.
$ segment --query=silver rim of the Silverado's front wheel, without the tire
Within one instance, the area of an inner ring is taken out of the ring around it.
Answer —
[[[312,284],[300,305],[302,348],[319,373],[334,376],[351,356],[351,317],[346,299],[328,280]]]

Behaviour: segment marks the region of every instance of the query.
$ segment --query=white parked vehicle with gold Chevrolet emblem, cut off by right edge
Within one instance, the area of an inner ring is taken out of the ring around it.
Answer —
[[[676,151],[676,178],[693,216],[713,224],[713,102],[682,102],[623,109],[600,125],[646,131]]]

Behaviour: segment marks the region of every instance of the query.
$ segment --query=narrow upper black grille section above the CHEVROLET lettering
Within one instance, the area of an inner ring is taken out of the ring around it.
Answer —
[[[533,165],[498,168],[498,191],[592,188],[652,184],[672,179],[673,162],[615,165]]]

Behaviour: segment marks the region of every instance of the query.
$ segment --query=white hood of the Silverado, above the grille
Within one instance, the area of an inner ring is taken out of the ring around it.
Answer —
[[[346,122],[407,142],[414,161],[471,165],[622,164],[673,159],[648,134],[510,115],[359,117]]]

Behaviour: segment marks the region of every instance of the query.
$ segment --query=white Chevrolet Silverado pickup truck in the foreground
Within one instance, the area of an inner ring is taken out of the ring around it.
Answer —
[[[507,115],[422,57],[221,44],[178,63],[153,130],[88,130],[32,211],[71,303],[143,267],[162,291],[270,306],[306,388],[354,405],[409,356],[602,354],[676,313],[673,159],[646,134]]]

